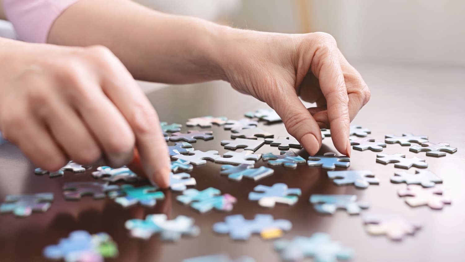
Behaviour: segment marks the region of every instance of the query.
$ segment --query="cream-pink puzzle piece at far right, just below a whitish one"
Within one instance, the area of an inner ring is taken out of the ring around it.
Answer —
[[[422,188],[419,185],[409,185],[406,189],[397,191],[399,196],[405,198],[405,203],[411,207],[428,206],[432,209],[442,209],[451,204],[451,198],[441,188]]]

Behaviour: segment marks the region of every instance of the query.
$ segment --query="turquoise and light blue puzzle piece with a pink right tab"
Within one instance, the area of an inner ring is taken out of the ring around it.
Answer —
[[[233,204],[237,199],[232,195],[220,195],[221,191],[216,188],[206,188],[202,191],[191,188],[183,192],[183,195],[178,195],[176,199],[183,204],[191,204],[191,207],[198,210],[200,213],[215,208],[219,211],[233,210]]]

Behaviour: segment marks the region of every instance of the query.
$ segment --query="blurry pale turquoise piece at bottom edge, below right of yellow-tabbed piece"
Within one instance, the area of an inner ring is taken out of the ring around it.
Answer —
[[[353,256],[352,249],[332,241],[329,234],[319,232],[311,237],[296,236],[292,241],[277,240],[274,249],[281,253],[283,261],[288,262],[300,262],[305,257],[312,257],[314,262],[336,262]]]

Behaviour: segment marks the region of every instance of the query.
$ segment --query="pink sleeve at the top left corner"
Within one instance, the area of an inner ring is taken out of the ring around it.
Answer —
[[[3,0],[8,20],[19,40],[46,43],[57,17],[79,0]]]

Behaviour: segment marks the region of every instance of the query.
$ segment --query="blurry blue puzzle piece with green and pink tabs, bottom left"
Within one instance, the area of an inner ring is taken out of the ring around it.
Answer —
[[[90,235],[76,230],[68,238],[60,239],[58,245],[47,246],[43,254],[48,259],[65,262],[103,262],[104,258],[118,256],[118,247],[106,233]]]

